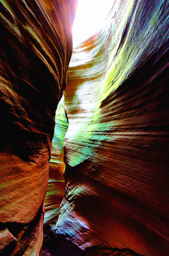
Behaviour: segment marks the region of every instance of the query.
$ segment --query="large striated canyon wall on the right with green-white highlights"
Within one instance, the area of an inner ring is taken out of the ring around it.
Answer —
[[[168,256],[168,11],[112,1],[105,28],[74,49],[56,234],[82,250]]]

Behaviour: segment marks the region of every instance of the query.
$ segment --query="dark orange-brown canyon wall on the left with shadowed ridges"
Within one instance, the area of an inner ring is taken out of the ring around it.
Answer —
[[[75,0],[0,1],[0,254],[39,255]]]

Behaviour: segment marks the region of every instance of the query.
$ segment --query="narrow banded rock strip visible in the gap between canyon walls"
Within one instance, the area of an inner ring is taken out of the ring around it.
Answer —
[[[45,224],[57,223],[60,203],[64,198],[64,137],[67,128],[68,120],[64,110],[64,97],[62,97],[55,115],[52,156],[49,162],[49,180],[45,196]]]

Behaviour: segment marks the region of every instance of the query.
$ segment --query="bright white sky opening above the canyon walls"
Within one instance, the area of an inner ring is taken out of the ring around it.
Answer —
[[[112,0],[79,0],[74,21],[74,47],[100,30],[112,7]]]

